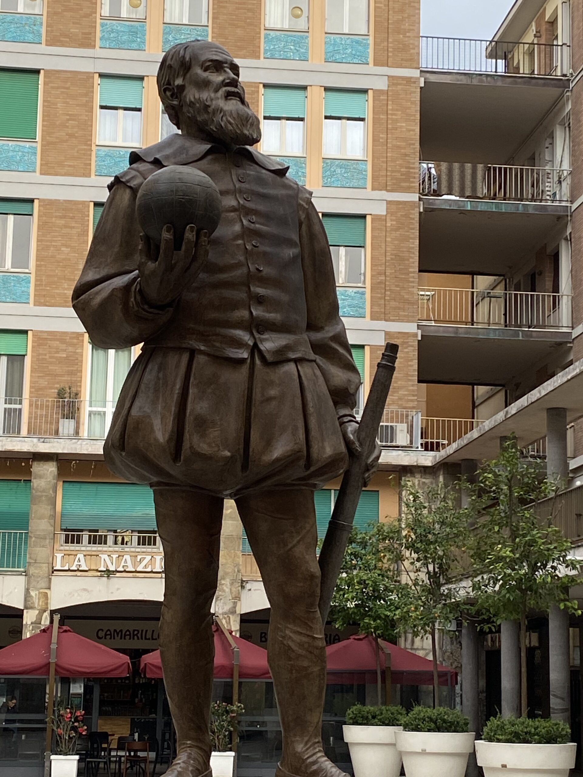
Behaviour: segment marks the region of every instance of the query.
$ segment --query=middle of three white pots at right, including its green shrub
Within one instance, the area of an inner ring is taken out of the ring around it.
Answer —
[[[395,734],[407,777],[464,777],[475,733],[457,709],[414,707]]]

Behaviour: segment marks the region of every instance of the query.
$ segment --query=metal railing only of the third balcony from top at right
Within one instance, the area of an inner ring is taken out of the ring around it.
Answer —
[[[419,321],[451,326],[571,329],[571,294],[420,288]]]

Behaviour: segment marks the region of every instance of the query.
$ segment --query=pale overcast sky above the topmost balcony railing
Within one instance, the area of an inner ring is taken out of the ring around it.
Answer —
[[[421,35],[488,40],[514,0],[421,0]]]

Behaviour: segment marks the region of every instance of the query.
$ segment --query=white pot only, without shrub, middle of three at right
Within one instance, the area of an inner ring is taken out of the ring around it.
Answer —
[[[475,733],[397,731],[395,743],[407,777],[464,777],[475,738]]]

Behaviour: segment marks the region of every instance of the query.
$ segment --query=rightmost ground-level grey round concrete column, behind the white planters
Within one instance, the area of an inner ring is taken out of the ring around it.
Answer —
[[[554,605],[549,611],[550,716],[571,723],[569,614]]]

